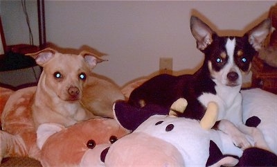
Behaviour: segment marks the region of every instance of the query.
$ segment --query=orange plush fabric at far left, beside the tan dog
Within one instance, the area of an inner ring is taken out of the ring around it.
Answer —
[[[39,159],[40,151],[30,113],[30,101],[33,100],[35,89],[28,87],[10,95],[1,114],[1,157],[28,156]]]

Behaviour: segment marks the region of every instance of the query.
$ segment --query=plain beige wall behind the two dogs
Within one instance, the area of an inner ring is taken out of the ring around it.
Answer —
[[[265,19],[275,3],[45,1],[46,40],[60,47],[90,46],[106,53],[109,61],[98,64],[94,71],[121,86],[158,71],[161,57],[173,58],[174,71],[195,71],[202,64],[204,57],[195,48],[195,39],[190,33],[192,12],[213,23],[213,28],[246,30]],[[1,17],[2,7],[1,4]],[[220,33],[226,34],[225,31]],[[14,38],[7,39],[10,43],[12,40]]]

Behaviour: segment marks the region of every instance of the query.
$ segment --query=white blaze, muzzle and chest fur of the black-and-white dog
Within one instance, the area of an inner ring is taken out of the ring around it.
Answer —
[[[240,104],[242,102],[242,98],[240,96],[240,85],[242,85],[242,74],[240,69],[235,65],[234,62],[234,51],[235,51],[235,38],[228,39],[226,42],[226,53],[229,57],[227,64],[225,64],[224,68],[218,72],[213,71],[213,81],[215,82],[215,90],[217,94],[208,94],[204,93],[202,96],[199,96],[198,100],[207,107],[210,101],[214,101],[217,103],[219,107],[219,116],[217,120],[228,119],[233,123],[242,121],[241,116],[233,116],[233,114],[240,115]],[[211,70],[211,62],[208,62],[208,66]],[[235,71],[238,73],[238,86],[229,87],[226,86],[228,84],[227,74],[230,71]],[[234,113],[235,112],[235,113]],[[235,117],[235,118],[234,118]]]

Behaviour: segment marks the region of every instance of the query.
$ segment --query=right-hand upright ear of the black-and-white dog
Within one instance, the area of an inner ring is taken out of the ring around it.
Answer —
[[[269,35],[271,29],[271,20],[265,19],[262,21],[258,26],[255,26],[249,32],[247,35],[249,35],[249,43],[253,46],[253,48],[258,51],[262,48],[262,43],[267,38],[267,35]]]

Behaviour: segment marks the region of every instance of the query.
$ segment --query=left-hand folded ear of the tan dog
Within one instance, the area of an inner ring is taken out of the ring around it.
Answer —
[[[51,60],[51,58],[54,57],[56,52],[57,51],[55,51],[54,49],[46,48],[42,51],[38,51],[36,53],[28,53],[26,55],[29,55],[30,57],[34,58],[37,64],[44,67],[44,64],[48,62],[48,60]]]

